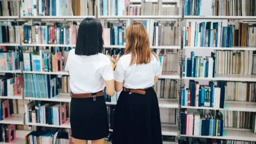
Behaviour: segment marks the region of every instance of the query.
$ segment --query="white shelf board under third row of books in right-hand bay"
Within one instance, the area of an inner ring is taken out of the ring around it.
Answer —
[[[207,80],[207,81],[236,81],[236,82],[256,82],[256,75],[231,75],[215,74],[215,77],[182,77],[182,79]]]

